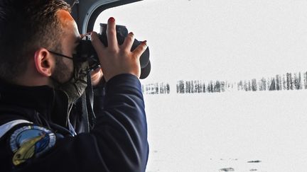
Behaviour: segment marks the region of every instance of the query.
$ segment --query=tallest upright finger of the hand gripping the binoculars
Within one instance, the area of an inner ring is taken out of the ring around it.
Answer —
[[[112,17],[109,18],[107,24],[107,40],[108,47],[112,49],[116,49],[116,47],[118,47],[115,19]]]

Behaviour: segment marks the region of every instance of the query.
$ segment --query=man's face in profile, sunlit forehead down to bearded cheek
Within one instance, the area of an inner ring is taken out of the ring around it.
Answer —
[[[59,10],[57,12],[57,16],[63,30],[61,53],[68,57],[72,57],[76,51],[77,45],[80,42],[80,33],[77,29],[77,24],[75,23],[72,16],[70,16],[68,11]],[[63,57],[55,57],[55,62],[53,78],[60,83],[68,81],[73,74],[72,60]]]

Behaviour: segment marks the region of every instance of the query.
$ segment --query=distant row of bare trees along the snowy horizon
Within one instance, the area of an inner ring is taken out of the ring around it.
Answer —
[[[298,73],[276,74],[262,79],[230,81],[180,80],[176,84],[177,93],[220,93],[225,91],[286,91],[307,89],[307,71]],[[169,94],[170,84],[143,84],[144,94]]]

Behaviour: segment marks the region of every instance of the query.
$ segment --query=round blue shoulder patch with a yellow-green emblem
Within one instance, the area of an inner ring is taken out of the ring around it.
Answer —
[[[18,166],[33,157],[38,157],[55,145],[55,134],[45,127],[27,125],[11,134],[10,146],[13,164]]]

